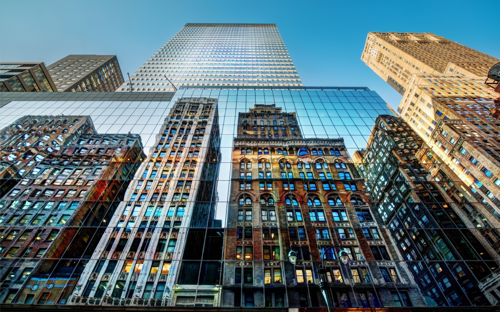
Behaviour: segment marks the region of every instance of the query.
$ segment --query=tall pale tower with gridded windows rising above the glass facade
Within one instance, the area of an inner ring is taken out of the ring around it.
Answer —
[[[134,91],[302,85],[276,24],[187,23],[130,81]],[[130,81],[117,91],[129,91]]]

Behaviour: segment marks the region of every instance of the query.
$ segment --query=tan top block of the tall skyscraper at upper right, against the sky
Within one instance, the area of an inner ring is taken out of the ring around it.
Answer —
[[[401,95],[413,74],[485,77],[500,62],[430,32],[369,32],[361,60]]]

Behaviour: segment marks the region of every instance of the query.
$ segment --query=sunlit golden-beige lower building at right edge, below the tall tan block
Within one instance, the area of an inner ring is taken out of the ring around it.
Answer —
[[[500,220],[500,122],[491,115],[498,94],[480,79],[415,75],[398,112]]]

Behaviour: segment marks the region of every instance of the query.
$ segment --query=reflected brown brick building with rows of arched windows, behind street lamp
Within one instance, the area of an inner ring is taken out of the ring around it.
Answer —
[[[224,243],[222,307],[319,307],[311,256],[325,258],[336,307],[423,306],[345,150],[304,138],[294,112],[239,113]],[[339,252],[324,251],[342,245]],[[299,255],[288,262],[290,246]]]

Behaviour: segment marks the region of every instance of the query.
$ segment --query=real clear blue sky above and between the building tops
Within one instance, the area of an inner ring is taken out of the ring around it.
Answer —
[[[400,95],[360,60],[368,31],[433,32],[500,58],[487,23],[499,13],[500,1],[464,0],[0,0],[0,61],[116,54],[126,75],[186,22],[276,23],[304,85],[367,86],[397,107]]]

